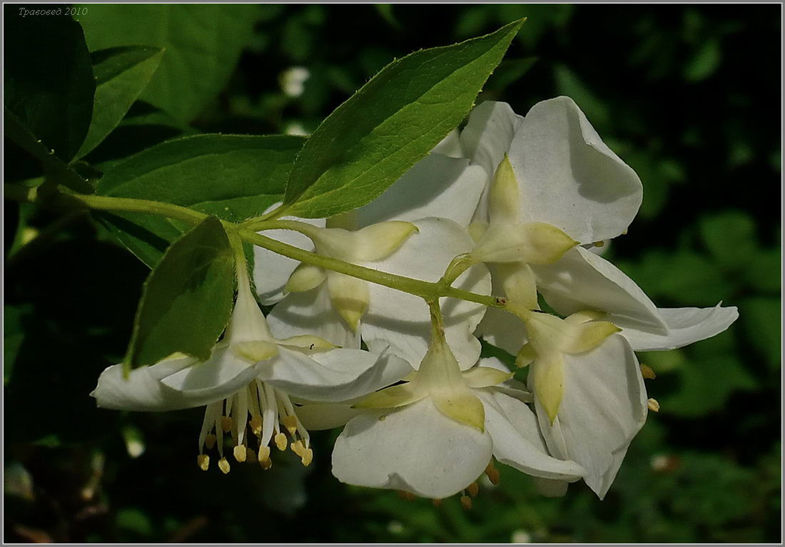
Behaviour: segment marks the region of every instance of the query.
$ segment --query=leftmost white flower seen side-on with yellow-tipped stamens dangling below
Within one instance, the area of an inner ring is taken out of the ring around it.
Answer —
[[[279,450],[290,446],[303,465],[309,465],[309,433],[290,396],[313,401],[352,399],[411,371],[408,363],[395,356],[331,349],[333,345],[311,335],[276,339],[243,275],[239,275],[238,286],[227,333],[210,359],[199,363],[192,357],[173,356],[132,370],[127,378],[122,365],[109,366],[90,394],[98,406],[158,411],[206,405],[197,458],[204,470],[210,464],[204,448],[217,444],[218,467],[229,471],[225,433],[232,436],[237,461],[246,461],[250,453],[268,468],[272,465],[270,444],[274,443]],[[256,443],[250,443],[250,436]]]

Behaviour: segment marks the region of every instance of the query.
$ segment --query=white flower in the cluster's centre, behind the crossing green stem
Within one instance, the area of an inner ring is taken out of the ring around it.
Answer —
[[[439,150],[460,153],[455,133]],[[264,233],[380,272],[435,282],[456,255],[473,246],[465,228],[483,184],[484,170],[469,166],[468,159],[432,153],[367,206],[329,223],[309,221],[317,227],[303,227],[309,237],[284,230]],[[359,348],[361,336],[371,351],[389,348],[412,366],[425,355],[430,321],[422,298],[298,265],[258,248],[256,264],[261,301],[278,302],[268,315],[277,336],[305,330],[349,348]],[[480,265],[458,278],[455,286],[488,294],[490,277]],[[284,292],[289,294],[283,297]],[[443,307],[447,340],[468,368],[480,355],[473,331],[485,308],[455,299],[443,299]]]

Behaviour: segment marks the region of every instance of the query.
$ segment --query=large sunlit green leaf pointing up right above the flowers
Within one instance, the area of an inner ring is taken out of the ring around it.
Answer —
[[[329,217],[370,202],[464,119],[523,21],[392,61],[309,138],[285,203]]]

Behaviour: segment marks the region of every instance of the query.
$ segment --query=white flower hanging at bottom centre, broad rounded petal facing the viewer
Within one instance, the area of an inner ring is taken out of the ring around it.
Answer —
[[[497,362],[498,363],[498,362]],[[498,368],[497,368],[498,367]],[[502,369],[502,370],[500,370]],[[491,359],[462,371],[438,329],[405,384],[367,397],[335,443],[333,474],[342,482],[445,498],[470,487],[491,457],[533,476],[577,480],[580,465],[546,454],[528,393],[504,382]]]

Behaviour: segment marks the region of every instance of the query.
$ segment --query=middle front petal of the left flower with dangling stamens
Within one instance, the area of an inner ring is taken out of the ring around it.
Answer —
[[[184,396],[224,399],[253,380],[259,367],[265,363],[261,361],[254,364],[240,359],[225,345],[215,348],[213,355],[204,363],[196,363],[162,377],[161,383],[183,393]]]

